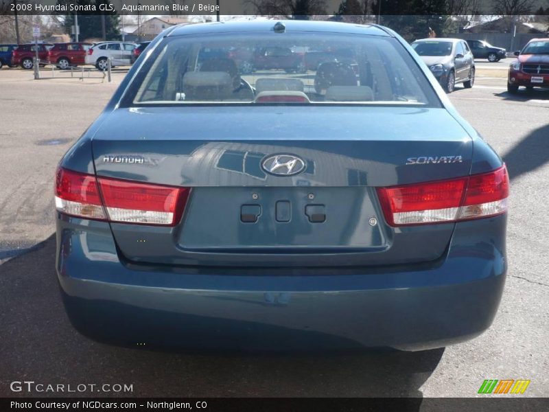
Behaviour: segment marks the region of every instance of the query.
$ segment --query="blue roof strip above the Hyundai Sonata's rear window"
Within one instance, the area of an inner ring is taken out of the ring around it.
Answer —
[[[255,20],[229,21],[178,25],[168,36],[183,36],[185,34],[215,34],[273,31],[274,25],[282,23],[285,32],[332,32],[349,34],[371,34],[374,36],[390,36],[390,32],[378,25],[359,25],[339,23],[334,21],[303,21],[303,20]]]

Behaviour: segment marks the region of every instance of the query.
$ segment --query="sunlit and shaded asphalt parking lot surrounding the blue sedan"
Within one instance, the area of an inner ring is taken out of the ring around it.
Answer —
[[[518,378],[531,380],[524,396],[548,396],[549,91],[509,95],[504,70],[478,65],[473,89],[449,96],[511,177],[509,273],[492,327],[430,352],[277,355],[112,347],[71,328],[54,269],[54,170],[124,72],[108,83],[0,70],[0,396],[51,395],[10,390],[14,380],[34,380],[133,385],[80,396],[471,397],[484,379]]]

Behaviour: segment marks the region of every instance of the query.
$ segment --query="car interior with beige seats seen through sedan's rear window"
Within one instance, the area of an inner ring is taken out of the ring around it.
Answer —
[[[397,51],[381,46],[367,42],[358,47],[347,46],[341,57],[341,43],[281,42],[270,45],[270,49],[285,47],[303,61],[308,49],[316,54],[321,49],[327,61],[318,62],[316,69],[305,73],[265,68],[244,73],[242,67],[253,63],[257,51],[266,48],[264,44],[243,45],[246,54],[239,58],[238,46],[230,41],[206,45],[178,45],[173,41],[159,52],[161,56],[150,67],[135,102],[426,102],[425,93],[417,84],[418,76],[410,76]]]

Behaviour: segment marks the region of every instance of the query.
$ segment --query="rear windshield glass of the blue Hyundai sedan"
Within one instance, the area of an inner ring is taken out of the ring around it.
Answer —
[[[439,100],[395,39],[349,34],[166,38],[129,104],[415,104]]]

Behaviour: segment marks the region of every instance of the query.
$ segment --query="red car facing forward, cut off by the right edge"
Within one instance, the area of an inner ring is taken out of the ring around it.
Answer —
[[[549,87],[549,38],[533,38],[515,56],[507,78],[509,93],[517,93],[519,86]]]

